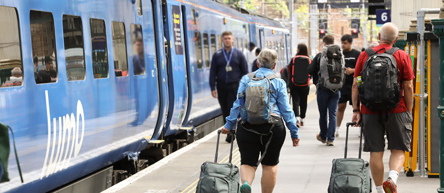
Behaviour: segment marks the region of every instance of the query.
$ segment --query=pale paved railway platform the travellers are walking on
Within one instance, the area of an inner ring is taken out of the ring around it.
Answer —
[[[289,132],[282,147],[280,163],[278,166],[278,179],[274,192],[327,192],[330,180],[332,160],[343,157],[346,122],[351,120],[352,112],[348,107],[340,135],[334,141],[333,147],[316,140],[318,129],[318,111],[314,94],[315,88],[311,88],[307,110],[306,124],[299,130],[300,146],[292,147]],[[349,157],[358,156],[359,130],[350,128],[349,133]],[[216,131],[204,138],[189,144],[187,147],[168,155],[143,171],[105,190],[106,193],[194,193],[199,180],[200,166],[207,160],[214,159],[216,145]],[[222,138],[222,137],[221,137]],[[218,161],[228,162],[230,144],[221,140],[219,146]],[[362,153],[364,160],[369,160],[369,153]],[[385,177],[388,176],[389,151],[384,153]],[[240,155],[236,143],[233,148],[233,163],[239,166]],[[261,167],[258,167],[256,178],[253,182],[254,193],[260,192]],[[406,177],[401,172],[398,179],[398,192],[418,193],[436,192],[439,187],[439,179],[418,177]],[[373,192],[376,189],[373,185]]]

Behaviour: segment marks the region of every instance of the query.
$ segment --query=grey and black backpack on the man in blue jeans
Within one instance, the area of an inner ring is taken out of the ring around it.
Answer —
[[[318,86],[338,90],[346,81],[345,60],[338,45],[326,45],[320,55]]]

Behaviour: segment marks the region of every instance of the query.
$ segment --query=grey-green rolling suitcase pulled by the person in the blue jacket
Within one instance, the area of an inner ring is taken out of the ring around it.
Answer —
[[[228,163],[217,163],[219,150],[220,130],[217,131],[216,155],[214,162],[206,161],[201,166],[196,193],[238,193],[239,192],[239,168],[231,163],[233,157],[233,141],[235,132],[232,131],[230,158]]]

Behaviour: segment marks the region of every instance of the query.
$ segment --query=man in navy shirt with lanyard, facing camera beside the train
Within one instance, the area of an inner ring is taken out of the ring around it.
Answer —
[[[219,101],[224,123],[226,123],[225,118],[230,115],[230,109],[236,101],[239,81],[248,73],[248,65],[243,53],[233,47],[231,32],[222,33],[222,42],[223,49],[213,54],[209,78],[211,95]],[[225,140],[231,142],[231,134]]]

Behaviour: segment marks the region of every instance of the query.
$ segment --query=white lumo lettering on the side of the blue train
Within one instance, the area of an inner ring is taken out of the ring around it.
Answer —
[[[83,113],[83,106],[80,100],[77,101],[77,116],[71,112],[65,116],[59,116],[59,131],[57,132],[57,119],[53,118],[53,133],[51,136],[51,117],[50,117],[50,102],[48,100],[48,91],[45,90],[46,98],[46,117],[48,120],[48,143],[46,147],[45,162],[43,163],[42,173],[40,179],[48,177],[58,171],[68,167],[72,153],[74,157],[80,152],[82,147],[83,135],[85,133],[85,115]],[[80,117],[82,117],[82,135],[79,135]],[[62,127],[63,122],[63,127]],[[72,133],[72,139],[71,139]],[[80,139],[80,140],[79,140]],[[52,141],[52,144],[51,144]],[[56,145],[57,141],[57,145]],[[66,147],[65,147],[66,143]],[[48,155],[51,156],[48,159]]]

